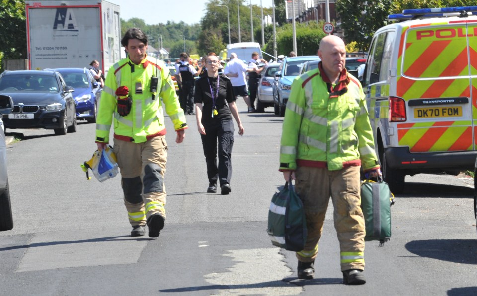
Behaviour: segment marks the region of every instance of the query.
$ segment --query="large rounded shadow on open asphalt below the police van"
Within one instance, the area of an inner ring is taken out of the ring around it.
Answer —
[[[419,257],[459,264],[477,264],[476,239],[414,240],[406,244],[406,249]]]

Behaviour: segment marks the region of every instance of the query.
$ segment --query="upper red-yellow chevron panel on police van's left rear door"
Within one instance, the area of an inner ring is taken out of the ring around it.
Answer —
[[[410,28],[402,74],[412,78],[468,76],[466,32],[466,26],[458,24]]]

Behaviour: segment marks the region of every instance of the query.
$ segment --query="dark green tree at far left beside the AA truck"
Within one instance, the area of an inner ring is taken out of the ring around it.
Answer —
[[[0,6],[0,57],[27,59],[25,1],[0,0]]]

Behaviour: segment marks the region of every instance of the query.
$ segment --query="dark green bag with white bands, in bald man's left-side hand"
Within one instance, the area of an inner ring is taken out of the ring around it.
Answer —
[[[305,247],[307,240],[305,211],[291,179],[272,197],[268,211],[267,233],[274,246],[295,252]]]

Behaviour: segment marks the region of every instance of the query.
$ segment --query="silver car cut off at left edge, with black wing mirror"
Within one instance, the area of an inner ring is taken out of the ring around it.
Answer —
[[[0,95],[0,124],[3,115],[9,114],[13,110],[11,97]],[[8,188],[8,174],[6,169],[6,143],[5,133],[0,129],[0,231],[13,228],[13,217],[11,214],[10,190]]]

